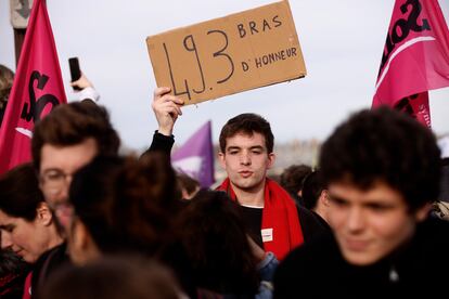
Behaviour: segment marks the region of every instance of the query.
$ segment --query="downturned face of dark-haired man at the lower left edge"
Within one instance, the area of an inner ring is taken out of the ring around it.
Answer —
[[[36,262],[40,255],[49,249],[46,235],[48,230],[39,217],[34,221],[26,221],[0,210],[0,230],[2,249],[14,251],[26,262]]]

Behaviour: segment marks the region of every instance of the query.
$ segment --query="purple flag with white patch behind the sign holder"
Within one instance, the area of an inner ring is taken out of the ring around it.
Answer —
[[[210,120],[171,155],[171,164],[177,171],[197,180],[202,187],[215,182]]]

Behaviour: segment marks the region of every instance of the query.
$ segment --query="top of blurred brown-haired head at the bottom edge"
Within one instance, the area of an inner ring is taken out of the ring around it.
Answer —
[[[188,298],[168,269],[140,256],[104,257],[84,266],[67,266],[52,276],[40,299]]]

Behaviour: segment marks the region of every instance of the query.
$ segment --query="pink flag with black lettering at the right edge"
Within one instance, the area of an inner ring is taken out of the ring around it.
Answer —
[[[437,0],[396,0],[373,107],[405,110],[431,127],[428,90],[449,87],[449,31]]]

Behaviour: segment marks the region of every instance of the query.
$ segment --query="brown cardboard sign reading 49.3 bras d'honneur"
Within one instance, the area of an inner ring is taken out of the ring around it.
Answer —
[[[146,38],[158,87],[185,104],[306,76],[288,1]]]

